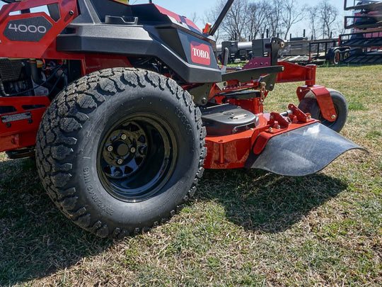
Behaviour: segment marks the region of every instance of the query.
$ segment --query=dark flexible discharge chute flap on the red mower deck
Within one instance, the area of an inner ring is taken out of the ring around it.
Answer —
[[[354,149],[366,151],[325,125],[314,123],[272,137],[261,154],[250,154],[245,167],[283,176],[304,176],[320,171]]]

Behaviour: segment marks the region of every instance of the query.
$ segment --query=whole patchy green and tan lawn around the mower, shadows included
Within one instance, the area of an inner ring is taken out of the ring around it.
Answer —
[[[180,215],[122,242],[57,210],[33,161],[0,155],[0,286],[381,286],[382,66],[325,67],[342,91],[347,152],[318,174],[205,171]],[[300,83],[265,102],[283,111]],[[303,84],[303,83],[301,83]]]

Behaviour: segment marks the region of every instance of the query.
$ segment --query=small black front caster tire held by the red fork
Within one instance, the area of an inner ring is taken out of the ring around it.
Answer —
[[[347,101],[345,96],[339,91],[334,89],[328,89],[328,91],[330,92],[330,96],[332,97],[335,111],[337,113],[337,118],[335,121],[330,122],[329,120],[323,118],[316,100],[316,96],[311,91],[308,92],[308,94],[306,94],[306,96],[300,101],[299,109],[304,113],[311,113],[312,118],[320,120],[323,125],[335,130],[337,133],[340,133],[347,120]]]

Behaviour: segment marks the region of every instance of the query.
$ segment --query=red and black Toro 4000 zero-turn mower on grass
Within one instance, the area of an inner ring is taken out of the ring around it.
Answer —
[[[134,235],[168,220],[204,169],[302,176],[358,145],[337,132],[338,91],[316,67],[253,60],[226,72],[214,25],[156,4],[110,0],[10,1],[0,11],[0,150],[35,157],[60,210],[100,237]],[[151,1],[150,1],[151,2]],[[265,113],[274,84],[306,81],[299,106]]]

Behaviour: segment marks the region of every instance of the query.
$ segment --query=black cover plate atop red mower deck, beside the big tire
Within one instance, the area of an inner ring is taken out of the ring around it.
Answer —
[[[201,108],[207,135],[233,135],[259,125],[259,118],[231,103]]]

